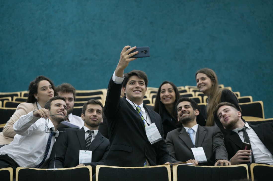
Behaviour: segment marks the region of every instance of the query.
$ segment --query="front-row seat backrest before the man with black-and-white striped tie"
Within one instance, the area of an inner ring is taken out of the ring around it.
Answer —
[[[72,168],[16,168],[16,181],[46,181],[46,180],[65,180],[65,181],[90,181],[92,180],[92,167],[72,167]]]

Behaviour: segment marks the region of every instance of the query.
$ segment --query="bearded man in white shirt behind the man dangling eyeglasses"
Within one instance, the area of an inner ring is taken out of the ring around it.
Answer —
[[[79,126],[79,128],[82,128],[84,126],[84,121],[81,119],[81,117],[72,114],[74,102],[76,99],[76,89],[69,83],[63,83],[57,86],[56,92],[58,95],[66,98],[68,114],[67,121],[69,121],[71,124]]]

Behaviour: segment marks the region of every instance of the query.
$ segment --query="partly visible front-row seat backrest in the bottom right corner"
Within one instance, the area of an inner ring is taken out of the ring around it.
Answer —
[[[251,180],[271,180],[273,165],[252,163],[250,165]]]

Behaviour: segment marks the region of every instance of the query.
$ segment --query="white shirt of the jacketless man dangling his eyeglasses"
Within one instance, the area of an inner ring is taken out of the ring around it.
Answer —
[[[45,124],[46,120],[34,117],[33,111],[21,116],[13,125],[13,129],[17,134],[9,145],[5,145],[0,149],[0,155],[7,154],[20,167],[36,167],[44,158],[50,135],[50,133],[45,132]],[[52,128],[55,131],[51,120],[48,121],[48,128]],[[48,155],[40,168],[48,166],[47,161],[50,157],[53,144],[56,141],[55,137],[58,137],[58,135],[59,133],[56,132],[55,136],[52,136]]]

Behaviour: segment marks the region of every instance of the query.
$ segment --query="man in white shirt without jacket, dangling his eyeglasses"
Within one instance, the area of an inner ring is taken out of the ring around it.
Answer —
[[[66,119],[66,102],[55,96],[44,108],[21,116],[13,125],[14,140],[0,149],[0,168],[47,168],[48,158],[59,133],[59,123]]]

